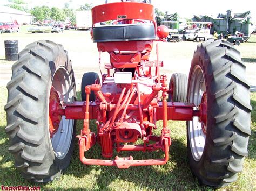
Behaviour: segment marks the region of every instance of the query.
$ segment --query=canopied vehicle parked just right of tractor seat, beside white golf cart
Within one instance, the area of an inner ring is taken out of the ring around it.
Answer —
[[[169,29],[169,35],[167,41],[177,41],[182,39],[182,34],[179,34],[179,22],[178,21],[161,21],[161,25],[165,25]]]

